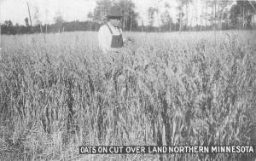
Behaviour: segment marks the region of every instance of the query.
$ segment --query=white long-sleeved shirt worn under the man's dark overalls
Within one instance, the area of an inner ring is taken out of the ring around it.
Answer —
[[[118,27],[112,26],[109,23],[108,23],[108,26],[111,28],[113,35],[120,35],[123,33],[122,29],[120,29],[120,28],[118,29]],[[117,50],[117,49],[111,48],[112,34],[109,31],[108,26],[107,25],[101,26],[101,28],[98,32],[99,46],[104,53],[106,53],[110,50]],[[124,37],[123,37],[123,40],[125,40]]]

